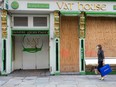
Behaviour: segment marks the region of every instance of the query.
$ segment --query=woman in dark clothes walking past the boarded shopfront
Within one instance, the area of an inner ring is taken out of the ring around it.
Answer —
[[[100,73],[100,68],[103,67],[104,64],[104,51],[102,50],[102,46],[99,44],[97,45],[97,56],[98,56],[98,71]],[[101,74],[101,73],[100,73]],[[104,80],[104,76],[101,75],[100,80]]]

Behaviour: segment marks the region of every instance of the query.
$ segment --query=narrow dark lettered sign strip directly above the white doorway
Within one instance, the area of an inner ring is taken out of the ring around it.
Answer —
[[[13,30],[12,31],[12,34],[13,35],[27,35],[27,34],[34,34],[34,35],[46,35],[46,34],[49,34],[49,31],[48,30]]]

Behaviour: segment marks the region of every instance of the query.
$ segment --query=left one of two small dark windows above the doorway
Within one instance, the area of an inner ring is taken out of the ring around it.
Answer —
[[[14,26],[27,27],[28,26],[28,17],[14,17]]]

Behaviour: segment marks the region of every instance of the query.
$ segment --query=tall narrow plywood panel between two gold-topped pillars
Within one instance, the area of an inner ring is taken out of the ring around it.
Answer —
[[[79,71],[78,18],[61,17],[60,71]]]

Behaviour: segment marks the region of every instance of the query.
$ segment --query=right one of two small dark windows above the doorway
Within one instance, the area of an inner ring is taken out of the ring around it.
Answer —
[[[34,27],[47,27],[47,17],[33,17]]]

